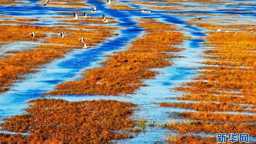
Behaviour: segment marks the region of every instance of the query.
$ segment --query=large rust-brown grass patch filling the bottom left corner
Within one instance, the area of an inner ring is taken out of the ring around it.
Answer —
[[[131,138],[113,131],[134,127],[127,119],[135,104],[114,100],[68,102],[60,99],[36,99],[26,108],[28,114],[4,118],[4,130],[29,135],[0,134],[3,143],[85,144],[109,143]]]

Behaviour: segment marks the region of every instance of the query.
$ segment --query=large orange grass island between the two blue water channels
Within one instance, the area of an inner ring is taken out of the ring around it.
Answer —
[[[170,45],[182,42],[182,34],[178,32],[156,31],[155,24],[148,29],[148,34],[132,42],[132,46],[104,62],[104,67],[88,70],[84,79],[60,83],[50,95],[62,94],[132,94],[140,86],[141,79],[153,78],[157,72],[148,68],[169,66],[174,56],[165,52],[176,52],[178,48]],[[158,24],[156,24],[158,25]]]

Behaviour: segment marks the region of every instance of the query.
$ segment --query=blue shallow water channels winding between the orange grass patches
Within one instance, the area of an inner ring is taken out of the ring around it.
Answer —
[[[41,7],[38,3],[30,0],[32,3],[29,6],[24,5],[17,6],[2,6],[0,12],[6,15],[12,16],[27,16],[28,18],[39,18],[44,21],[35,22],[32,24],[38,25],[56,25],[58,21],[52,16],[70,16],[70,14],[57,14],[57,11],[69,11],[69,12],[86,12],[90,11],[91,7],[85,7],[84,9],[76,8],[51,8]],[[254,6],[239,6],[234,4],[219,5],[221,10],[216,8],[216,5],[203,5],[199,4],[202,9],[195,11],[194,8],[187,8],[182,11],[170,11],[170,10],[151,10],[150,14],[144,14],[141,12],[141,8],[145,8],[144,5],[132,4],[130,1],[121,1],[126,5],[134,8],[140,8],[138,10],[112,10],[108,9],[105,2],[96,0],[87,0],[88,4],[97,7],[98,12],[95,14],[88,14],[93,16],[110,16],[116,18],[120,23],[107,24],[109,26],[119,26],[120,30],[116,31],[119,35],[110,38],[108,41],[95,46],[90,49],[79,49],[69,52],[64,58],[56,59],[49,64],[45,64],[42,68],[38,69],[35,74],[25,75],[26,79],[14,84],[10,91],[0,94],[0,118],[9,117],[11,115],[24,113],[22,108],[26,108],[28,105],[26,101],[40,98],[43,92],[53,90],[54,86],[60,82],[67,80],[76,80],[80,78],[80,73],[84,69],[94,68],[100,66],[100,62],[106,60],[102,57],[105,54],[111,54],[114,51],[124,50],[128,48],[131,40],[141,36],[144,31],[142,28],[136,26],[137,22],[135,18],[154,18],[160,22],[176,24],[179,28],[182,28],[182,32],[186,36],[192,37],[191,40],[184,40],[184,42],[177,46],[179,48],[185,48],[181,52],[173,53],[182,58],[174,58],[172,60],[173,65],[166,68],[157,68],[160,72],[154,79],[144,80],[144,83],[148,86],[141,87],[135,94],[129,94],[126,96],[94,96],[94,95],[65,95],[65,96],[51,96],[50,98],[62,98],[69,101],[80,100],[97,100],[97,99],[114,99],[127,102],[133,102],[138,104],[138,111],[134,112],[131,117],[133,119],[147,120],[148,122],[156,122],[159,124],[165,124],[172,121],[183,122],[184,119],[172,118],[172,112],[183,112],[193,110],[184,110],[180,108],[165,108],[160,107],[159,102],[175,102],[177,100],[169,99],[170,97],[181,96],[181,92],[173,90],[174,87],[180,86],[183,82],[188,82],[191,78],[197,76],[196,71],[200,66],[204,66],[204,59],[200,58],[203,55],[203,51],[208,47],[203,46],[204,40],[201,37],[206,36],[206,30],[198,28],[194,25],[189,25],[186,20],[194,18],[194,13],[217,14],[218,16],[204,16],[203,18],[226,18],[226,14],[239,14],[239,18],[242,18],[246,22],[253,22],[256,14],[249,13],[247,11],[254,11]],[[232,2],[232,1],[230,1]],[[248,1],[249,2],[249,1]],[[250,1],[250,3],[255,3]],[[190,3],[184,3],[184,5],[194,5]],[[161,5],[160,5],[161,6]],[[164,5],[162,5],[164,6]],[[177,6],[175,6],[177,7]],[[26,12],[29,10],[30,12]],[[246,11],[246,12],[233,12],[234,10]],[[191,15],[179,16],[172,15],[170,13],[192,13]],[[222,17],[221,15],[224,15]],[[255,22],[255,21],[254,21]],[[241,23],[241,22],[240,22]],[[3,45],[0,50],[22,50],[22,46],[26,46],[26,42],[20,42],[20,47],[13,45]],[[19,43],[18,43],[19,44]],[[30,47],[33,48],[36,44]],[[147,127],[146,132],[139,133],[135,138],[128,140],[119,140],[117,143],[165,143],[164,139],[170,134],[175,135],[176,132],[172,130],[166,130],[159,127]],[[206,136],[206,134],[198,134]],[[250,141],[255,141],[255,138],[250,138]]]

